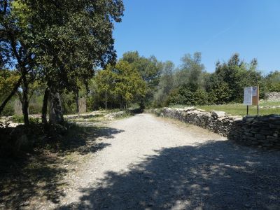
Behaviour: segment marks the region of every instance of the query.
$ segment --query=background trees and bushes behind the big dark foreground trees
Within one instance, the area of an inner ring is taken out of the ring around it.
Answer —
[[[244,87],[260,86],[260,99],[266,92],[280,92],[280,72],[268,74],[258,70],[258,62],[246,63],[235,53],[228,62],[217,62],[213,73],[205,71],[202,55],[195,52],[181,57],[181,65],[160,62],[155,56],[143,57],[137,51],[125,52],[115,64],[104,69],[93,69],[86,81],[76,78],[75,90],[60,90],[64,114],[77,113],[78,99],[86,99],[87,111],[98,109],[127,109],[128,107],[155,108],[169,105],[212,105],[241,103]],[[17,71],[1,70],[1,100],[13,90],[20,78]],[[34,80],[29,83],[29,113],[42,112],[48,86]],[[11,97],[1,112],[13,116],[13,102],[22,102],[22,86]]]

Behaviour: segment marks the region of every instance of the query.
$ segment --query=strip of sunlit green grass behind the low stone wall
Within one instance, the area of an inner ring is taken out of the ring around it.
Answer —
[[[280,115],[280,108],[272,108],[272,106],[280,106],[280,102],[260,102],[260,116],[278,114]],[[172,108],[183,108],[186,105],[174,105]],[[246,106],[243,104],[223,104],[223,105],[208,105],[208,106],[196,106],[199,109],[204,109],[205,111],[225,111],[233,116],[246,116]],[[257,115],[257,106],[249,106],[248,114],[250,116]]]

